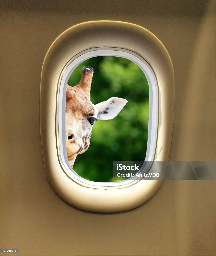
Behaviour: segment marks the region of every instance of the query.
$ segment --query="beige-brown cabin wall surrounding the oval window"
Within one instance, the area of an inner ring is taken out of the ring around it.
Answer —
[[[129,212],[74,209],[47,181],[39,120],[52,42],[86,21],[134,23],[161,40],[173,63],[170,160],[215,161],[215,3],[1,1],[1,248],[20,256],[216,254],[214,181],[166,181]]]

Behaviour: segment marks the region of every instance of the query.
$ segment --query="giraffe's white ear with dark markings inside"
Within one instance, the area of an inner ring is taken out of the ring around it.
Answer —
[[[95,105],[98,110],[97,118],[99,120],[110,120],[115,118],[123,109],[128,101],[121,98],[112,97]]]

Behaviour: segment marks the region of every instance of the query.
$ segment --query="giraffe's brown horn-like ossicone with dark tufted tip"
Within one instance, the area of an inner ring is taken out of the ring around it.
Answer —
[[[85,66],[83,67],[82,71],[82,77],[80,82],[77,84],[77,87],[82,89],[86,96],[90,100],[90,90],[91,90],[91,84],[92,84],[92,77],[93,77],[94,70],[92,67],[86,68]]]

